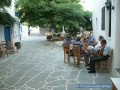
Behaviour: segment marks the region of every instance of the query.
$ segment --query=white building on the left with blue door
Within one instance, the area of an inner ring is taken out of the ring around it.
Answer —
[[[7,34],[7,35],[5,35],[6,27],[3,25],[0,25],[0,41],[12,40],[14,42],[20,42],[20,23],[19,23],[18,17],[15,16],[14,0],[12,0],[11,6],[9,8],[6,7],[5,9],[13,18],[16,19],[17,22],[14,24],[13,27],[9,28],[10,30],[8,30],[8,32],[7,32],[9,34]]]

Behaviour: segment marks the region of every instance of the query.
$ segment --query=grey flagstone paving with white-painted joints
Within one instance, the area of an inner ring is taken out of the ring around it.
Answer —
[[[22,41],[18,53],[0,58],[0,90],[111,90],[78,88],[78,84],[111,85],[110,74],[88,74],[80,66],[63,63],[63,49],[43,36]]]

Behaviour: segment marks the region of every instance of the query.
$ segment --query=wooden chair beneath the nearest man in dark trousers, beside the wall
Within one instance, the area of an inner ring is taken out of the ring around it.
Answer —
[[[111,65],[111,62],[112,62],[112,57],[113,57],[113,49],[111,50],[110,57],[108,58],[108,60],[101,61],[100,63],[98,63],[99,73],[101,73],[104,63],[106,64],[106,69],[107,69],[108,73],[110,72],[110,65]]]

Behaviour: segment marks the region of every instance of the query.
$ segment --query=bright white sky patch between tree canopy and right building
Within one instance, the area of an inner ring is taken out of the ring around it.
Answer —
[[[93,2],[94,0],[81,0],[81,4],[85,8],[85,10],[89,10],[89,11],[93,10]]]

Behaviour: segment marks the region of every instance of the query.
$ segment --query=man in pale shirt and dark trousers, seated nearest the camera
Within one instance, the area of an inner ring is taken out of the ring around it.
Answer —
[[[108,60],[108,58],[110,57],[110,52],[111,49],[109,46],[107,46],[106,40],[105,39],[101,40],[100,56],[90,59],[90,68],[88,68],[88,70],[90,71],[88,73],[96,73],[95,63]]]

